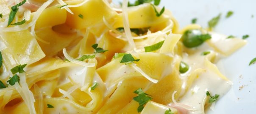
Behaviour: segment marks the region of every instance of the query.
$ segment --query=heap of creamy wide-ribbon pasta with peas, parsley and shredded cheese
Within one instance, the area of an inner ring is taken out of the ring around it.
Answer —
[[[232,86],[214,63],[246,41],[159,3],[1,0],[0,114],[204,114]]]

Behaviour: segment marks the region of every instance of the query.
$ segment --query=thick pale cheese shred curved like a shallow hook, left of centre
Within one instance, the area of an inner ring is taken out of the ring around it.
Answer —
[[[85,66],[85,67],[94,67],[95,66],[95,63],[86,63],[86,62],[76,60],[76,59],[70,57],[70,55],[67,54],[67,51],[66,51],[65,48],[63,49],[63,54],[64,54],[64,57],[66,57],[67,60],[69,60],[70,62],[73,62],[75,64],[82,65],[82,66]]]

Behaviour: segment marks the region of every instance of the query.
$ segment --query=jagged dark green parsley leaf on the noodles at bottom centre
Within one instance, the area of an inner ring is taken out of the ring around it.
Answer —
[[[141,88],[134,91],[134,93],[138,94],[138,96],[133,99],[139,103],[139,107],[137,109],[138,112],[141,112],[144,109],[144,104],[146,104],[149,100],[152,100],[151,96],[142,91]]]

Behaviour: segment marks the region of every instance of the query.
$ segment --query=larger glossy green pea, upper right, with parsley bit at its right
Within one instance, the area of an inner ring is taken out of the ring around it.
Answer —
[[[202,34],[201,30],[187,30],[182,36],[184,46],[188,48],[200,46],[204,41],[211,38],[209,34]]]

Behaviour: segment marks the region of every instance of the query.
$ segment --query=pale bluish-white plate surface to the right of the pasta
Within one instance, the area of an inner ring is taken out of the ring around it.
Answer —
[[[214,110],[206,114],[256,114],[256,64],[248,66],[256,57],[256,0],[161,0],[161,5],[173,12],[180,28],[198,18],[198,24],[207,22],[219,13],[221,20],[214,31],[242,38],[248,34],[248,44],[219,62],[220,71],[233,81],[231,90],[219,99]],[[234,14],[226,19],[228,11]],[[252,18],[252,15],[254,17]],[[243,87],[239,90],[239,87]]]

